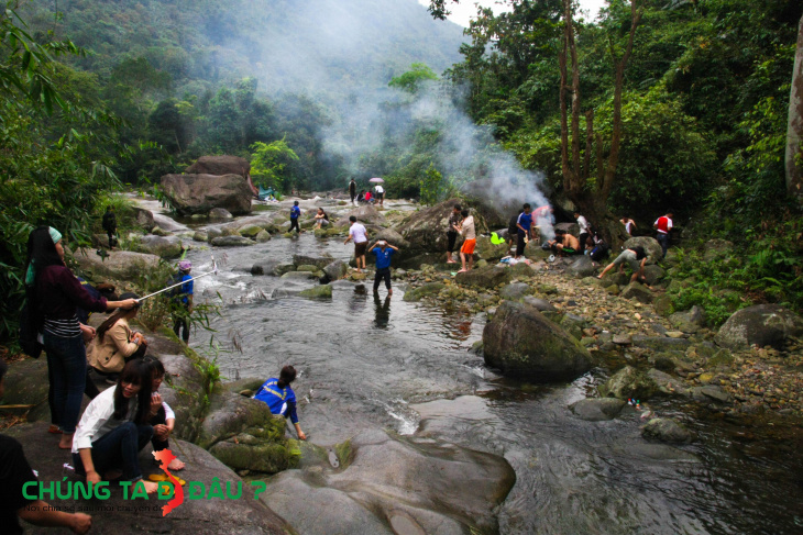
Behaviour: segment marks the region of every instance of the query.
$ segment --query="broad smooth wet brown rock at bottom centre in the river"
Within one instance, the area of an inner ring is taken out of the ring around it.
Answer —
[[[322,461],[267,481],[263,499],[298,533],[495,533],[516,480],[503,457],[431,438],[366,431],[334,449],[336,470]]]

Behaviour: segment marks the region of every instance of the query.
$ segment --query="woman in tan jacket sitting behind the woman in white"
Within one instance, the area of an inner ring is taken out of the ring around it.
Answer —
[[[123,293],[121,299],[140,299],[135,293]],[[133,309],[118,309],[97,328],[95,339],[89,344],[87,358],[89,364],[103,375],[119,374],[125,363],[133,358],[144,357],[147,341],[131,331],[129,320],[136,316],[139,304]],[[117,377],[107,381],[116,382]]]

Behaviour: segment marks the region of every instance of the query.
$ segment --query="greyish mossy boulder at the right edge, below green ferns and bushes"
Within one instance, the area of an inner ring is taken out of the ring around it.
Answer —
[[[716,343],[728,349],[747,349],[751,345],[783,348],[791,336],[803,336],[801,316],[777,304],[757,304],[728,317],[719,327]]]

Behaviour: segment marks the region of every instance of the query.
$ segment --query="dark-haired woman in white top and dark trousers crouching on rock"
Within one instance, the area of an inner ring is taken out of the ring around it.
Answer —
[[[147,423],[152,376],[151,365],[144,359],[131,360],[120,372],[117,386],[95,398],[84,411],[73,441],[73,462],[76,473],[85,476],[88,483],[99,483],[100,473],[107,480],[142,480],[139,454],[153,436]],[[142,483],[148,494],[156,492],[156,483]]]

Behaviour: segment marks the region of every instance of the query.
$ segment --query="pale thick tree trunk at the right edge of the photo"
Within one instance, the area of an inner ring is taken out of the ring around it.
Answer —
[[[803,16],[798,26],[798,49],[792,71],[792,92],[789,97],[787,126],[787,190],[803,203]]]

